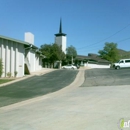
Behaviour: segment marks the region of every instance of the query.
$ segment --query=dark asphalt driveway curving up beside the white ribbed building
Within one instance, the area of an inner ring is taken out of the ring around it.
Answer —
[[[57,70],[0,87],[0,107],[55,92],[73,82],[78,70]]]

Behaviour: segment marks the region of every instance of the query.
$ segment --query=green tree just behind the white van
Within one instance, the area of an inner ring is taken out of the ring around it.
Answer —
[[[98,53],[103,59],[110,61],[111,63],[119,60],[119,53],[116,43],[106,42],[103,50],[99,50]]]

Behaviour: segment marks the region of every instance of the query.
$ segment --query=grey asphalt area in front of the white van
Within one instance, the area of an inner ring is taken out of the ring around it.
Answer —
[[[130,85],[130,69],[90,69],[82,87]]]

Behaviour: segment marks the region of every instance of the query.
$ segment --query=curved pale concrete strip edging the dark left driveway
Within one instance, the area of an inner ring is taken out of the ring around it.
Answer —
[[[41,100],[45,100],[45,99],[48,99],[48,98],[59,96],[60,94],[66,93],[68,91],[72,91],[73,89],[80,87],[82,85],[82,83],[84,82],[84,80],[85,80],[84,71],[85,70],[80,70],[78,72],[75,80],[70,85],[68,85],[68,86],[66,86],[66,87],[64,87],[64,88],[62,88],[62,89],[60,89],[56,92],[49,93],[49,94],[46,94],[44,96],[40,96],[40,97],[37,97],[37,98],[32,98],[32,99],[22,101],[22,102],[19,102],[19,103],[15,103],[15,104],[12,104],[12,105],[9,105],[9,106],[4,106],[4,107],[1,107],[0,110],[6,111],[6,110],[15,109],[15,108],[27,105],[27,104],[31,104],[31,103],[35,103],[35,102],[38,102],[38,101],[41,101]]]

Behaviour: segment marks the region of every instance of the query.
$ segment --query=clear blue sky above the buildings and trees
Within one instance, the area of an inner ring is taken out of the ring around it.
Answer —
[[[60,17],[67,46],[80,55],[105,42],[130,51],[130,0],[0,0],[0,35],[24,40],[32,32],[36,46],[54,43]]]

